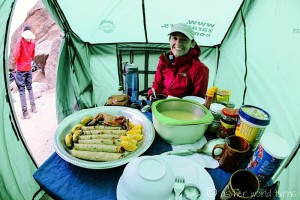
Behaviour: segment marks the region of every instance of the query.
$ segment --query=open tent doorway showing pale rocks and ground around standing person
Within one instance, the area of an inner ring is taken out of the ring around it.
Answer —
[[[23,5],[24,3],[26,5]],[[12,16],[9,37],[10,71],[15,69],[12,52],[24,26],[30,25],[36,36],[34,58],[36,70],[33,72],[32,86],[38,112],[30,112],[30,118],[23,119],[19,92],[15,82],[11,83],[11,102],[27,148],[36,164],[40,166],[54,152],[53,137],[57,127],[56,63],[62,34],[41,1],[18,1]],[[29,99],[27,99],[27,106],[30,108]]]

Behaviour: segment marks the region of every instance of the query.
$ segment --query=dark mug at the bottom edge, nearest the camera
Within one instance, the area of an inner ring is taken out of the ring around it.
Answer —
[[[258,192],[260,183],[256,175],[248,170],[235,171],[227,185],[218,195],[219,200],[251,199]]]

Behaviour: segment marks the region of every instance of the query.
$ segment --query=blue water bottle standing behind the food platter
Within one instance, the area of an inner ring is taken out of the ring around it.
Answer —
[[[139,76],[138,68],[134,64],[125,65],[125,89],[126,94],[130,96],[131,102],[139,100]]]

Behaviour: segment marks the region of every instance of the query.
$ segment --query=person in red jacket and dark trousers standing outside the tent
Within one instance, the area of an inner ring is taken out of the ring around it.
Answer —
[[[37,112],[32,90],[31,62],[35,55],[35,35],[31,32],[31,26],[25,26],[21,37],[14,49],[14,62],[16,65],[15,81],[20,94],[21,108],[24,119],[29,119],[27,110],[25,87],[28,90],[31,111]]]

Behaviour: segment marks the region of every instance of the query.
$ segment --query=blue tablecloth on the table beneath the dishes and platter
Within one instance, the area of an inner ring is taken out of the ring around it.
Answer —
[[[158,155],[172,150],[158,135],[143,155]],[[125,165],[111,169],[86,169],[70,164],[53,153],[33,174],[41,188],[55,200],[92,199],[115,200],[116,188]],[[222,169],[206,169],[218,193],[231,173]]]

